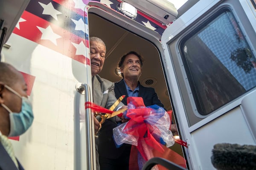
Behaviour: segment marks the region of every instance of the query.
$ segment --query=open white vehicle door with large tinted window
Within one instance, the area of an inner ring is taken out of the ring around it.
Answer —
[[[200,0],[161,38],[190,169],[213,170],[217,143],[256,144],[255,0]]]

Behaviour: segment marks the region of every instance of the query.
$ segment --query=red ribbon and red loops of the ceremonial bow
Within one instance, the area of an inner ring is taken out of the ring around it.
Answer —
[[[128,107],[126,116],[130,118],[130,120],[127,122],[127,125],[125,126],[123,132],[138,137],[138,146],[133,146],[133,148],[134,147],[137,148],[136,150],[140,152],[143,159],[145,159],[146,161],[148,160],[145,154],[145,150],[143,149],[142,142],[140,142],[142,140],[145,142],[145,144],[147,144],[152,148],[154,152],[154,156],[159,155],[159,157],[164,157],[166,153],[169,153],[167,154],[169,155],[169,160],[171,160],[171,157],[175,158],[175,160],[179,160],[179,162],[181,162],[180,163],[181,166],[186,167],[186,161],[183,159],[183,157],[181,157],[174,151],[160,144],[151,134],[151,132],[153,131],[155,132],[158,129],[146,123],[145,120],[148,116],[150,116],[151,114],[154,114],[154,109],[145,107],[143,103],[143,99],[141,97],[128,97],[127,103],[128,105],[129,103],[134,105],[135,109],[131,109],[131,108],[129,109]],[[99,112],[99,113],[109,113],[109,114],[113,113],[113,111],[110,111],[92,102],[85,102],[85,108],[90,108],[92,109],[92,111]],[[169,112],[169,114],[170,113],[172,112]],[[170,119],[172,119],[171,115],[169,117]],[[181,139],[174,139],[174,140],[178,144],[181,144],[182,146],[187,147],[187,143],[182,141]],[[132,151],[131,151],[130,160],[132,160],[131,159],[132,156],[135,156],[135,155],[132,154]],[[134,159],[136,158],[137,156],[134,157]],[[175,160],[172,160],[172,161],[177,162]],[[131,163],[132,162],[130,161],[130,164]],[[131,170],[131,168],[129,169]]]

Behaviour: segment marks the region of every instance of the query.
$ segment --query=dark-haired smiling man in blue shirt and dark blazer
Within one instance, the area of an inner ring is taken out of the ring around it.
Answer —
[[[115,95],[118,99],[120,96],[125,95],[122,100],[124,105],[127,105],[127,97],[142,97],[145,106],[159,105],[164,107],[158,99],[154,88],[144,87],[140,85],[139,78],[142,71],[143,57],[135,51],[130,51],[123,55],[119,61],[118,67],[120,68],[123,79],[115,83]],[[106,121],[105,126],[108,131],[104,132],[105,146],[99,148],[99,163],[101,170],[128,170],[131,145],[122,144],[116,148],[113,141],[113,128],[119,123],[126,122],[116,116],[116,122]],[[108,139],[108,140],[107,140]]]

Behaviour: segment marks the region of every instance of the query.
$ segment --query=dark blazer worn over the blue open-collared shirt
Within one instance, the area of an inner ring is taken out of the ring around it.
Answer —
[[[115,83],[115,95],[118,99],[120,96],[125,95],[125,98],[122,100],[124,105],[127,105],[127,91],[125,87],[125,82],[121,79],[119,82]],[[150,105],[159,105],[163,107],[163,104],[158,99],[158,96],[154,90],[154,88],[148,88],[140,85],[139,82],[139,97],[142,97],[144,100],[145,106]],[[109,159],[117,159],[124,151],[129,151],[131,145],[123,144],[121,147],[116,148],[116,145],[113,140],[113,128],[117,126],[116,122],[108,121],[108,119],[103,123],[102,129],[99,133],[99,155],[103,157],[107,157]]]

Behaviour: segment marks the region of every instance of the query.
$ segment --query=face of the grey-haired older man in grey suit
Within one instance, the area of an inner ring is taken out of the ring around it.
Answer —
[[[90,41],[90,59],[92,76],[102,71],[105,61],[106,47],[98,41]]]

